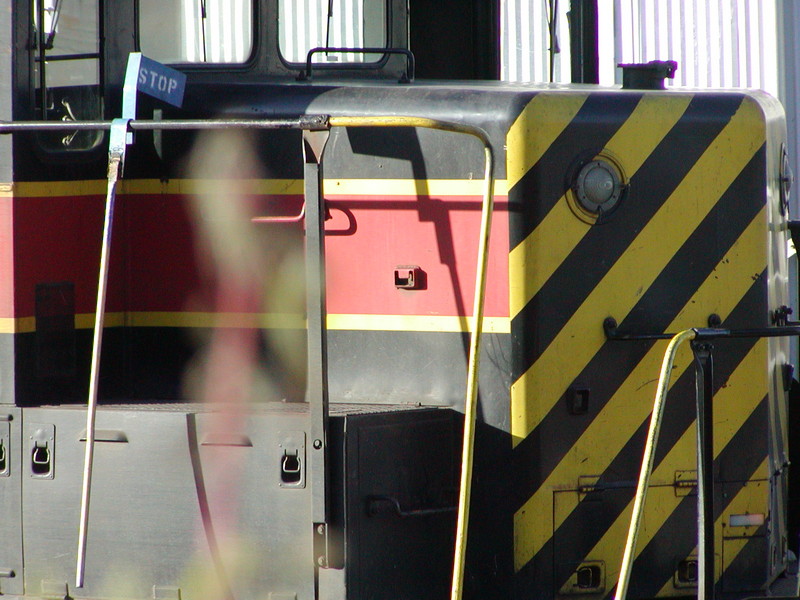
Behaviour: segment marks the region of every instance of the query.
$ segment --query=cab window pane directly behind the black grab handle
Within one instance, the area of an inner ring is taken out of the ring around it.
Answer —
[[[383,48],[386,0],[279,0],[278,39],[284,60],[306,61],[312,48]],[[382,54],[320,52],[315,63],[374,62]]]

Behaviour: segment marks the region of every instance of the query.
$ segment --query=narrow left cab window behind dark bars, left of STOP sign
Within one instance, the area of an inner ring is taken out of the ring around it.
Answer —
[[[44,120],[102,118],[99,2],[33,0],[36,108]],[[51,149],[86,150],[102,138],[99,131],[76,131],[40,139]]]

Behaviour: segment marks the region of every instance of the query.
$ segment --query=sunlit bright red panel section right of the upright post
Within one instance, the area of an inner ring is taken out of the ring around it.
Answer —
[[[471,315],[481,198],[328,196],[328,310]],[[508,316],[508,213],[492,220],[486,316]],[[418,266],[426,289],[397,289],[394,269]]]

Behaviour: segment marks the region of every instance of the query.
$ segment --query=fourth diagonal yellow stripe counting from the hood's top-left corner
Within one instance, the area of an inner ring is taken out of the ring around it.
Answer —
[[[761,248],[766,222],[766,208],[762,208],[750,225],[717,267],[698,288],[689,302],[670,324],[670,331],[705,324],[708,315],[717,313],[726,318],[739,300],[747,293],[753,281],[751,273],[766,268],[766,250]],[[570,452],[561,459],[536,493],[514,515],[515,564],[521,569],[550,539],[561,522],[549,522],[552,490],[556,486],[570,487],[579,475],[603,473],[619,454],[652,410],[656,378],[666,344],[654,345],[631,371],[601,413],[587,427]],[[673,369],[672,380],[677,381],[691,365],[691,353],[679,355]],[[762,375],[763,376],[763,375]],[[755,379],[757,375],[753,376]],[[609,434],[613,431],[614,434]],[[578,469],[580,468],[580,472]],[[659,480],[654,476],[653,483]]]

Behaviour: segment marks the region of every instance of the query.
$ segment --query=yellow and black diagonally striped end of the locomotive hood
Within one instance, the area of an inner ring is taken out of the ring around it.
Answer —
[[[510,128],[520,597],[602,598],[616,583],[666,343],[608,341],[604,319],[631,333],[706,327],[716,317],[724,327],[765,327],[785,303],[784,292],[770,289],[785,272],[775,258],[785,248],[775,185],[781,123],[759,94],[572,90],[535,96]],[[597,157],[618,167],[624,188],[613,214],[592,222],[570,196],[576,170]],[[779,518],[772,513],[783,485],[770,478],[783,439],[769,431],[785,411],[773,386],[784,353],[783,343],[766,340],[714,349],[717,576],[726,590],[760,588],[782,560],[781,549],[777,560],[772,552],[782,542],[765,523]],[[634,565],[638,597],[696,593],[684,572],[696,552],[687,483],[696,478],[694,386],[687,350],[673,376]],[[741,514],[763,523],[732,526],[741,519],[730,516]]]

